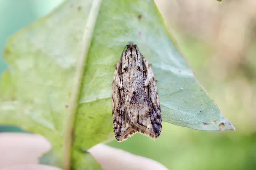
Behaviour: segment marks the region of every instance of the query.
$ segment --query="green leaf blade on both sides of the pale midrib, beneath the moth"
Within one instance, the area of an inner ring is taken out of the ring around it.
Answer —
[[[153,64],[164,121],[199,130],[234,129],[194,78],[153,1],[104,0],[99,12],[93,5],[97,2],[66,1],[7,42],[9,69],[1,76],[0,123],[45,136],[53,149],[43,163],[62,166],[66,116],[74,108],[72,168],[99,168],[86,151],[113,139],[114,64],[130,41]],[[88,34],[91,23],[95,29]],[[92,36],[91,41],[82,40],[83,34]],[[82,55],[86,64],[78,60],[81,46],[82,52],[88,47]],[[77,86],[72,90],[73,81]]]

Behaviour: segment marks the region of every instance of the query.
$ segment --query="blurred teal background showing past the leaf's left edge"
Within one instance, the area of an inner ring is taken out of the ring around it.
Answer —
[[[0,73],[7,67],[2,56],[7,38],[19,29],[46,15],[63,0],[0,0]],[[11,10],[10,10],[11,9]],[[0,132],[23,132],[13,126],[0,126]]]

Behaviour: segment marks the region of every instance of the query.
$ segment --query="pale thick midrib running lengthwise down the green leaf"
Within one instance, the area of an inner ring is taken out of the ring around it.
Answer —
[[[78,100],[81,94],[81,86],[83,82],[83,75],[86,67],[86,60],[90,48],[91,39],[93,36],[93,31],[97,17],[99,14],[99,9],[102,0],[93,0],[91,9],[87,18],[86,27],[83,34],[83,39],[81,43],[81,51],[77,60],[77,67],[73,82],[73,87],[71,91],[71,97],[69,102],[69,108],[66,115],[66,124],[64,128],[64,143],[63,143],[63,169],[71,169],[71,148],[73,144],[73,131],[75,116],[78,109]]]

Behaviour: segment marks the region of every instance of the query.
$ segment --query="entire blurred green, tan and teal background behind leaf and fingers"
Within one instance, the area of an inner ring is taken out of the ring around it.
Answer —
[[[0,53],[8,37],[63,0],[0,0]],[[196,78],[236,131],[205,132],[163,123],[157,140],[134,135],[108,145],[169,169],[256,168],[256,4],[254,0],[156,0]],[[7,65],[0,57],[0,72]],[[3,131],[21,131],[2,126]]]

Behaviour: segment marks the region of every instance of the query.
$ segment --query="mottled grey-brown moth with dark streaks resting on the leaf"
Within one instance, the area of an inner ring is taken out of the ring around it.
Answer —
[[[112,115],[119,142],[137,132],[153,139],[160,136],[162,118],[154,74],[133,43],[126,45],[115,68]]]

